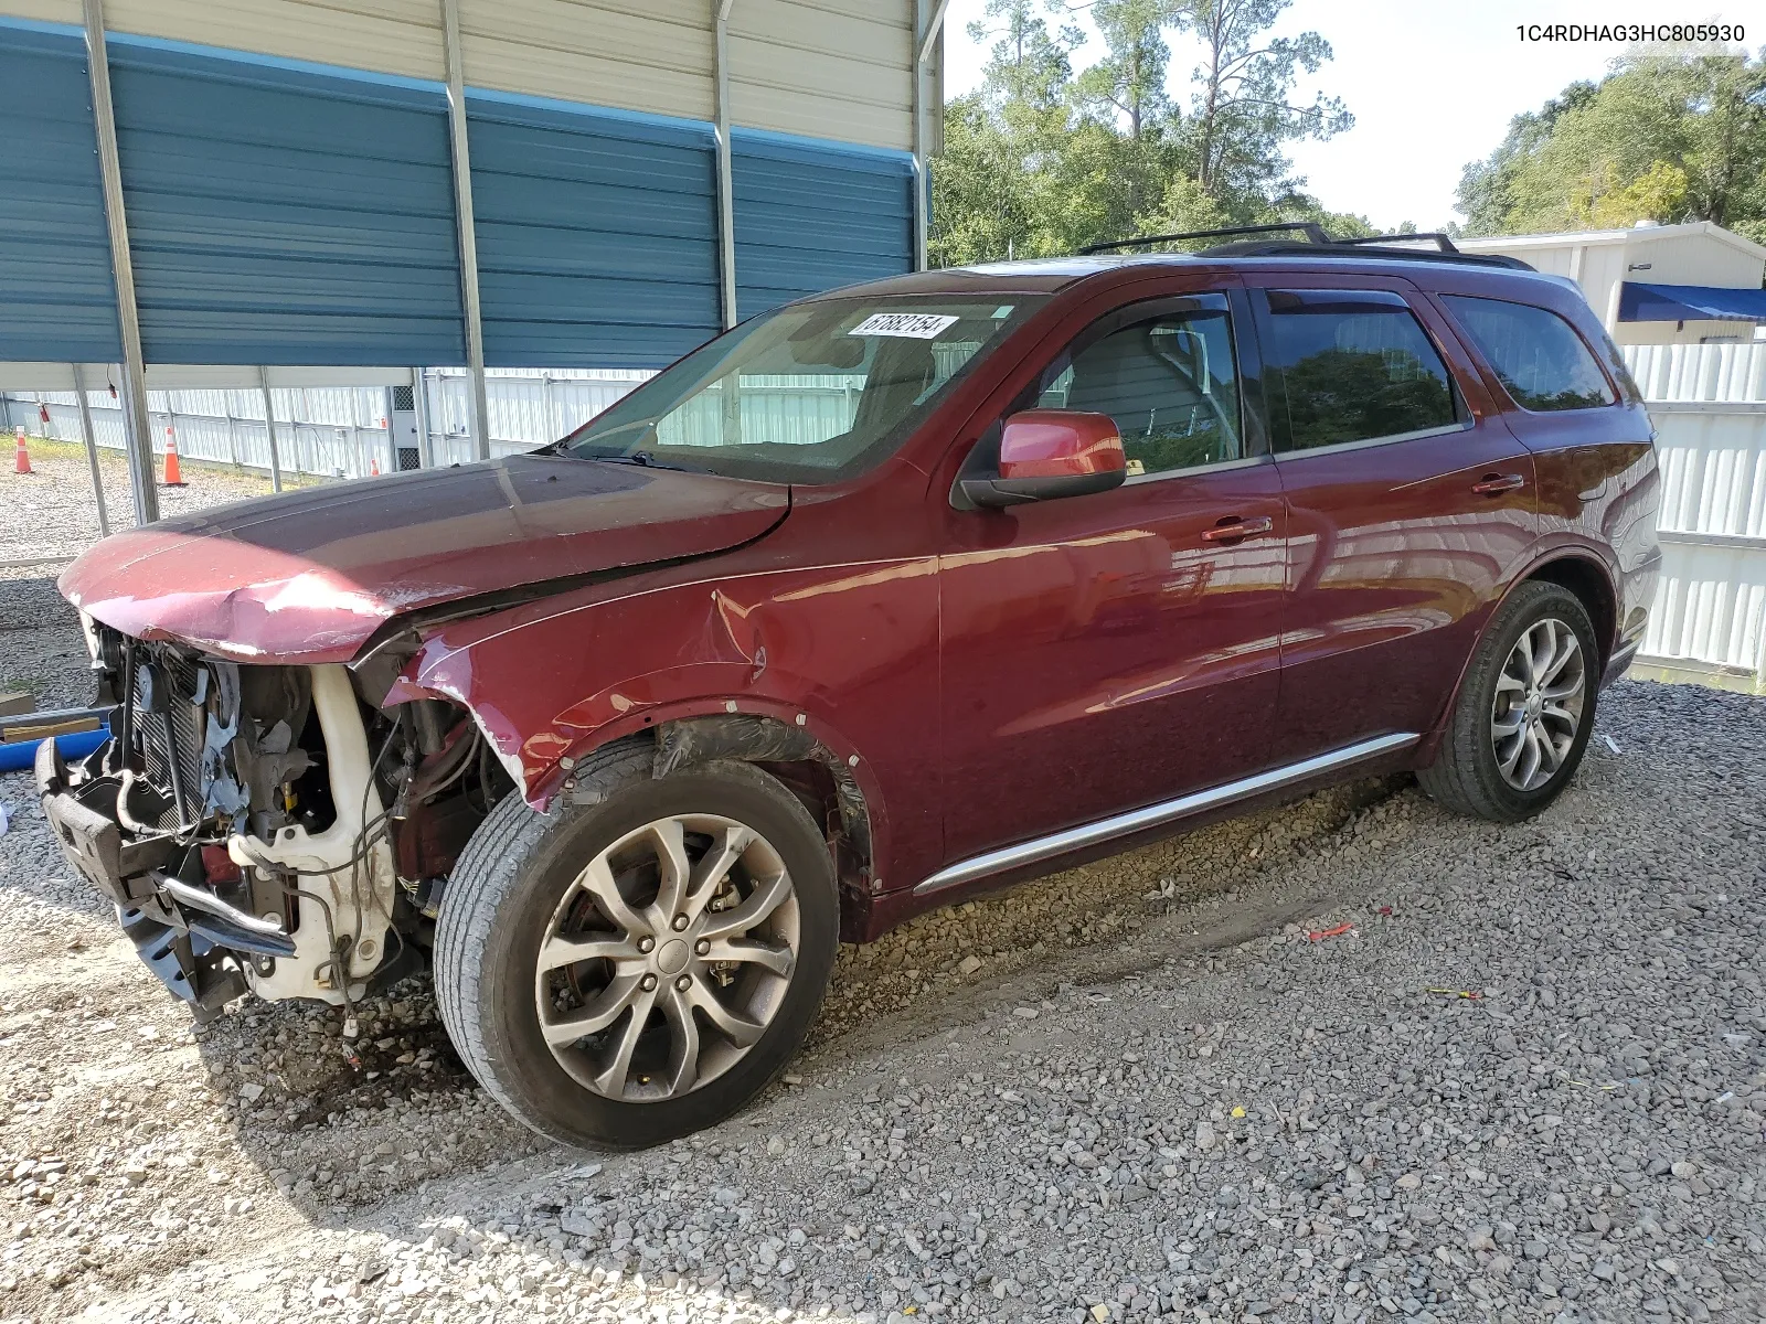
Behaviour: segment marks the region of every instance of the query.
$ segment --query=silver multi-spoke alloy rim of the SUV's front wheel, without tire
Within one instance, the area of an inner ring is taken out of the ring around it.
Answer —
[[[791,874],[758,831],[715,814],[646,823],[577,874],[546,925],[546,1045],[597,1095],[687,1095],[765,1034],[800,937]]]

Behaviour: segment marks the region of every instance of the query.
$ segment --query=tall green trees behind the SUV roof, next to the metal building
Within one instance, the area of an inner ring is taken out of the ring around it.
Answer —
[[[1335,101],[1289,104],[1298,71],[1317,69],[1330,48],[1316,34],[1266,39],[1287,0],[1219,0],[1219,9],[1217,0],[1091,0],[1106,51],[1077,74],[1072,51],[1084,34],[1051,30],[1047,18],[1072,14],[1070,4],[989,0],[970,25],[971,39],[992,48],[982,87],[945,113],[932,162],[934,261],[1273,219],[1370,233],[1360,217],[1324,221],[1287,178],[1287,143],[1349,122]],[[1199,16],[1213,25],[1213,44],[1192,72],[1204,95],[1185,113],[1171,95],[1169,37]]]

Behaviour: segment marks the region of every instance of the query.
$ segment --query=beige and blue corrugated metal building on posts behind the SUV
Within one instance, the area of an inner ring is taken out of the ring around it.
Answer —
[[[464,365],[487,454],[486,365],[659,367],[924,265],[943,12],[0,0],[0,388],[118,385],[143,519],[148,383]]]

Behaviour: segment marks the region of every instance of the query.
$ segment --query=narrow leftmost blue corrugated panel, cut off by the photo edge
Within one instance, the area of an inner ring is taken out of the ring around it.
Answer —
[[[122,357],[85,37],[0,23],[0,360]]]

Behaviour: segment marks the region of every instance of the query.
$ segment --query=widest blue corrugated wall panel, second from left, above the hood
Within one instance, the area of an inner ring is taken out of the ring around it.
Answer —
[[[111,37],[150,364],[464,362],[447,97]]]

